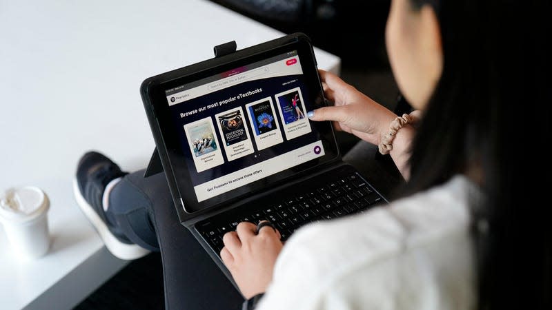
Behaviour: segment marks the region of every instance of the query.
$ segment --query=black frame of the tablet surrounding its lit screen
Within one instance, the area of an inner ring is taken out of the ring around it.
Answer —
[[[292,50],[297,50],[299,61],[302,64],[303,74],[306,76],[306,79],[304,79],[306,87],[308,87],[308,90],[312,92],[313,98],[315,98],[313,103],[315,106],[312,108],[314,109],[326,105],[313,47],[311,41],[304,34],[290,34],[280,39],[239,50],[227,56],[210,59],[179,70],[159,74],[158,76],[146,79],[146,81],[142,83],[141,94],[146,107],[146,114],[150,121],[157,150],[161,157],[161,163],[166,172],[172,198],[175,200],[175,205],[177,206],[181,221],[197,214],[203,214],[204,211],[215,209],[221,205],[235,202],[243,196],[248,196],[266,188],[268,184],[282,182],[306,169],[335,161],[339,158],[339,149],[335,142],[335,135],[331,123],[311,121],[311,126],[315,127],[320,134],[325,151],[324,156],[286,169],[283,172],[273,174],[262,180],[249,183],[238,189],[233,189],[230,192],[209,198],[199,203],[197,202],[190,180],[190,173],[183,160],[183,156],[186,156],[186,154],[182,153],[179,141],[177,141],[176,135],[173,132],[174,127],[172,125],[172,118],[170,118],[169,105],[166,100],[165,91],[173,87],[178,87],[179,85],[184,85],[208,76],[239,68],[243,65],[262,61],[271,56],[277,56]]]

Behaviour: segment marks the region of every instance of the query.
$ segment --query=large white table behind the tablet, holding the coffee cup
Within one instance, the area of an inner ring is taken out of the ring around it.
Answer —
[[[0,0],[0,190],[50,197],[50,252],[20,262],[0,229],[1,309],[69,309],[128,262],[111,256],[72,195],[79,157],[96,149],[127,171],[154,143],[139,96],[146,77],[282,33],[204,0]],[[315,50],[319,68],[340,59]]]

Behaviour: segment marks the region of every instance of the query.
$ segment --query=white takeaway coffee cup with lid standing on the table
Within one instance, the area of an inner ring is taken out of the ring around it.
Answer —
[[[14,254],[38,258],[50,248],[48,196],[37,187],[8,189],[0,194],[0,223]]]

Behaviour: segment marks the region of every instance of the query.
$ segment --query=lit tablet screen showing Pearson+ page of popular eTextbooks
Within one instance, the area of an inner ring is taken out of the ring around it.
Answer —
[[[201,202],[324,156],[297,51],[166,90]]]

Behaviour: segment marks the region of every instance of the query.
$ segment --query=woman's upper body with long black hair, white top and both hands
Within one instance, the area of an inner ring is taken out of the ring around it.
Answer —
[[[395,114],[321,72],[335,106],[311,120],[380,145],[408,182],[388,207],[308,225],[286,247],[251,223],[226,234],[221,257],[257,309],[550,309],[550,225],[525,174],[547,166],[535,146],[548,122],[524,109],[552,103],[537,77],[543,6],[393,0],[388,56],[418,112],[391,135]]]

